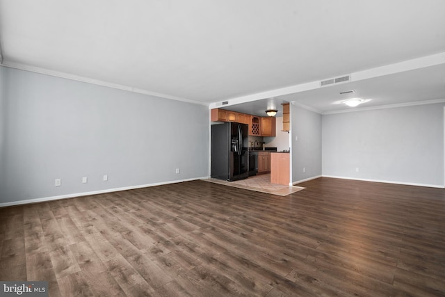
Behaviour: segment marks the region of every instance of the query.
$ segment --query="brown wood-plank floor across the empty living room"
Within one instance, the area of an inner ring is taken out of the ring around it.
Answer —
[[[50,296],[445,296],[445,191],[193,181],[0,209],[0,280]]]

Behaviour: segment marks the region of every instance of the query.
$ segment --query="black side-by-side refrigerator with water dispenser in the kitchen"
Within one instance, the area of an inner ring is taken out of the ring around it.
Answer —
[[[239,122],[211,126],[211,177],[232,182],[249,176],[248,131]]]

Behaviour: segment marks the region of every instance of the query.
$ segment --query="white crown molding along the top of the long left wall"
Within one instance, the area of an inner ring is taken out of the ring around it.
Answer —
[[[54,70],[48,70],[48,69],[44,69],[44,68],[40,68],[40,67],[34,67],[34,66],[29,66],[29,65],[19,64],[19,63],[5,61],[0,66],[14,68],[17,70],[24,70],[24,71],[28,71],[28,72],[46,74],[46,75],[50,75],[51,77],[60,77],[62,79],[70,79],[72,81],[81,81],[83,83],[91,83],[93,85],[104,86],[104,87],[108,87],[108,88],[115,88],[118,90],[126,90],[126,91],[133,92],[133,93],[150,95],[150,96],[155,96],[155,97],[160,97],[160,98],[165,98],[165,99],[172,99],[172,100],[181,101],[181,102],[200,104],[200,105],[204,105],[204,106],[209,105],[208,103],[205,103],[205,102],[199,102],[199,101],[195,101],[195,100],[191,100],[191,99],[187,99],[187,98],[183,98],[183,97],[176,97],[176,96],[167,95],[167,94],[163,94],[163,93],[156,93],[156,92],[152,92],[149,90],[143,90],[140,88],[133,88],[131,86],[124,86],[119,83],[110,83],[108,81],[101,81],[99,79],[91,79],[89,77],[81,77],[81,76],[75,75],[75,74],[58,72],[58,71],[54,71]]]

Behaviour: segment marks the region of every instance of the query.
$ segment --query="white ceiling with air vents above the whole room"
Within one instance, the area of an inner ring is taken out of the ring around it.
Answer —
[[[443,0],[0,0],[0,49],[8,67],[165,98],[243,111],[275,97],[328,113],[350,89],[372,99],[363,106],[445,99],[444,11]]]

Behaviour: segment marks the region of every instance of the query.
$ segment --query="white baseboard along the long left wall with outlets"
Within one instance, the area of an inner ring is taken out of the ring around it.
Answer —
[[[35,199],[28,199],[28,200],[19,200],[19,201],[13,201],[13,202],[3,202],[3,203],[0,203],[0,207],[10,207],[10,206],[20,205],[20,204],[47,202],[47,201],[52,201],[52,200],[76,198],[76,197],[97,195],[97,194],[104,194],[104,193],[111,193],[111,192],[118,192],[118,191],[127,191],[127,190],[134,190],[136,188],[147,188],[147,187],[150,187],[150,186],[161,186],[163,184],[177,184],[179,182],[189,182],[189,181],[192,181],[192,180],[208,179],[208,178],[209,177],[194,177],[194,178],[191,178],[191,179],[178,179],[178,180],[174,180],[174,181],[170,181],[170,182],[156,182],[154,184],[141,184],[141,185],[137,185],[137,186],[124,186],[122,188],[107,188],[106,190],[99,190],[99,191],[91,191],[91,192],[84,192],[84,193],[72,193],[72,194],[67,194],[67,195],[44,197],[44,198],[35,198]]]

